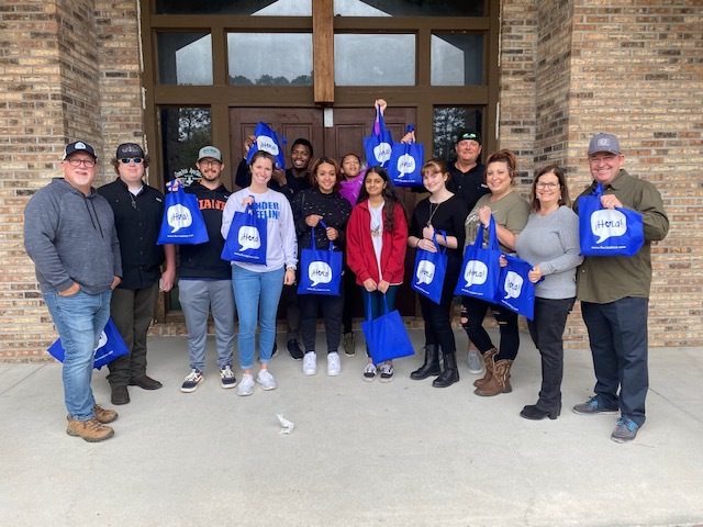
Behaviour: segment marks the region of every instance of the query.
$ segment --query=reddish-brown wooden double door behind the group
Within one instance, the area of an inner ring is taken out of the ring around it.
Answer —
[[[357,154],[364,159],[364,137],[371,133],[373,109],[335,108],[327,109],[325,115],[325,110],[319,108],[232,108],[230,136],[233,166],[244,156],[244,142],[254,133],[259,121],[268,123],[279,136],[287,139],[288,150],[295,138],[309,139],[314,148],[311,165],[321,156],[341,159],[348,153]],[[400,139],[403,136],[405,125],[416,122],[414,108],[389,108],[386,111],[386,126],[391,131],[393,138]],[[406,189],[399,189],[399,193],[410,221],[420,194]],[[414,251],[409,250],[405,257],[405,279],[397,300],[397,306],[403,316],[416,314],[415,295],[409,285],[413,258]],[[364,316],[360,301],[356,304],[355,316]]]

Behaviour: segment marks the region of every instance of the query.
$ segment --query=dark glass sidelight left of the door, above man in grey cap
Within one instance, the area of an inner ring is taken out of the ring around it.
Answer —
[[[179,177],[189,183],[199,179],[196,170],[198,150],[212,142],[209,108],[163,108],[160,111],[164,180]]]

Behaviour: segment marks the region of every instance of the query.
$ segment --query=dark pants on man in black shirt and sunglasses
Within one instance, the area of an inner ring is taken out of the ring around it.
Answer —
[[[131,379],[146,374],[146,334],[154,318],[158,283],[144,289],[115,289],[110,316],[130,352],[108,365],[108,382],[126,386]]]

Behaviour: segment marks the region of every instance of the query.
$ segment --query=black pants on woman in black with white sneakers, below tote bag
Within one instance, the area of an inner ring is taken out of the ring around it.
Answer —
[[[342,310],[344,296],[330,296],[325,294],[301,294],[301,329],[305,352],[315,350],[315,336],[317,334],[317,313],[322,309],[322,318],[325,324],[327,339],[327,354],[337,352],[342,338]]]

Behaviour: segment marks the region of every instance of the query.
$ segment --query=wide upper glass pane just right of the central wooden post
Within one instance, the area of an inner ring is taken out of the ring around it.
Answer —
[[[415,35],[334,35],[337,86],[414,86]]]

